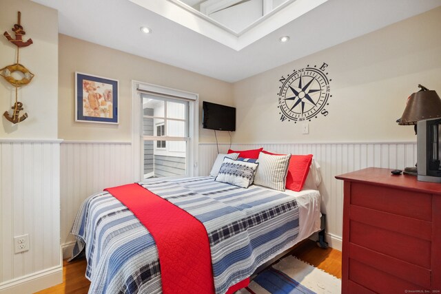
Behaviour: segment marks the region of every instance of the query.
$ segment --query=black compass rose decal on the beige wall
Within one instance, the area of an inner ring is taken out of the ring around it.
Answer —
[[[327,67],[327,63],[320,67],[307,65],[279,79],[282,83],[277,93],[280,120],[297,123],[329,114],[325,107],[332,97],[329,85],[332,80],[325,72]]]

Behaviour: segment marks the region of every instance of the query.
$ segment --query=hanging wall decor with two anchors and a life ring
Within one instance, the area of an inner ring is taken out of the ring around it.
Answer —
[[[20,116],[20,111],[23,110],[23,103],[18,101],[19,87],[22,87],[23,85],[28,85],[28,83],[30,83],[30,81],[32,81],[32,78],[34,77],[34,74],[32,74],[32,72],[30,72],[24,65],[21,65],[19,63],[20,48],[28,47],[33,43],[32,39],[28,39],[28,41],[23,41],[23,35],[26,34],[26,32],[21,26],[21,12],[18,12],[18,23],[14,24],[12,32],[14,32],[15,34],[15,39],[13,39],[8,32],[4,32],[3,35],[6,36],[6,39],[8,39],[8,41],[17,46],[17,62],[12,65],[3,67],[0,70],[0,76],[3,76],[3,78],[5,78],[8,83],[15,87],[15,103],[14,106],[12,106],[12,109],[14,110],[12,112],[12,116],[7,111],[3,113],[3,116],[5,116],[7,120],[15,124],[20,123],[21,121],[28,118],[27,113]],[[21,79],[14,78],[12,76],[12,73],[14,72],[21,73],[23,77]]]

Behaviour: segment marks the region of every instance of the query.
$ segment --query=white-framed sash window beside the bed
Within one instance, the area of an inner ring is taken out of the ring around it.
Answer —
[[[198,94],[132,81],[132,99],[134,180],[198,176]]]

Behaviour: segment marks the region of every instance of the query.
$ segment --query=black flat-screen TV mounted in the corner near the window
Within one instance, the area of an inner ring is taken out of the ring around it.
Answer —
[[[236,131],[236,108],[203,101],[202,127],[219,131]]]

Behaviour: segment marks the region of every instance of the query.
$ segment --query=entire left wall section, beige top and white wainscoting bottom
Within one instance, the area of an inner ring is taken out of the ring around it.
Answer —
[[[63,281],[60,143],[54,140],[58,116],[58,12],[29,0],[1,0],[1,33],[12,33],[18,11],[26,32],[23,39],[34,42],[20,50],[20,63],[35,77],[19,90],[19,101],[29,117],[18,125],[3,117],[15,102],[15,91],[0,77],[2,294],[34,293]],[[16,52],[16,47],[0,35],[0,68],[12,65]],[[15,253],[13,240],[20,235],[28,235],[29,250]]]

